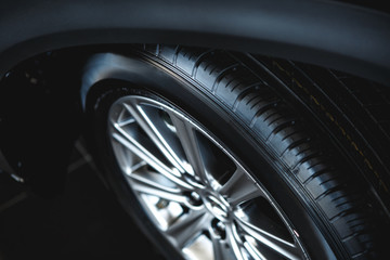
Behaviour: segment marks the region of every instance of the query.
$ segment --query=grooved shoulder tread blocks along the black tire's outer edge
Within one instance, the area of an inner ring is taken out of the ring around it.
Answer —
[[[346,177],[351,172],[344,173],[333,167],[332,156],[324,154],[316,136],[304,130],[304,119],[291,112],[273,88],[243,61],[225,51],[168,46],[148,46],[145,50],[198,82],[272,147],[315,207],[324,213],[351,259],[375,258],[373,245],[376,237],[372,235],[375,221],[370,217],[368,200]],[[344,81],[346,78],[338,80]],[[373,100],[359,102],[375,114],[369,105],[377,99],[373,96]],[[385,102],[388,107],[389,101]],[[389,121],[390,118],[378,120],[379,126]]]

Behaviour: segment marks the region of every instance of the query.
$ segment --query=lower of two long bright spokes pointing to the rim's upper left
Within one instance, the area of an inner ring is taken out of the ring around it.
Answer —
[[[146,164],[152,166],[158,172],[164,174],[166,178],[174,182],[176,184],[191,188],[191,185],[186,182],[182,181],[178,173],[172,169],[167,167],[161,160],[156,158],[150,151],[147,151],[143,145],[141,145],[135,139],[133,139],[130,134],[128,134],[122,128],[120,128],[117,123],[114,123],[114,128],[117,130],[113,133],[113,138],[122,144],[126,148],[130,150],[133,154],[139,156]]]

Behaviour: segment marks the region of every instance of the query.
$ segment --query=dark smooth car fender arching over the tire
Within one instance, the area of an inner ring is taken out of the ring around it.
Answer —
[[[390,15],[336,1],[5,0],[0,31],[0,77],[61,48],[179,43],[296,60],[390,86]]]

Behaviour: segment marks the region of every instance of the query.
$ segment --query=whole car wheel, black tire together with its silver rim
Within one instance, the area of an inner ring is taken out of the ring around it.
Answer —
[[[126,60],[140,67],[88,93],[88,140],[167,259],[384,259],[378,187],[266,62],[169,46]]]

